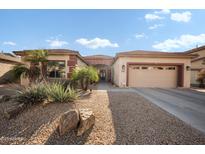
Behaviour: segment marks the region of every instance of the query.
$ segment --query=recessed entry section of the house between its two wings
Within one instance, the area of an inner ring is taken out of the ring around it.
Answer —
[[[101,80],[111,81],[111,64],[113,57],[106,55],[85,56],[85,61],[97,68]]]

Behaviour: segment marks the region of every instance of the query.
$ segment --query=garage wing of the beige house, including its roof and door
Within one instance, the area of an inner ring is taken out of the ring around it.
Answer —
[[[190,87],[193,57],[187,53],[121,52],[112,64],[112,80],[119,87]]]

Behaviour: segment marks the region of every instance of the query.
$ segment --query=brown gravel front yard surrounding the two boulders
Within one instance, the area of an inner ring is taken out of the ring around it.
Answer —
[[[0,144],[205,144],[205,135],[134,92],[94,90],[75,102],[90,108],[96,122],[81,137],[60,137],[59,115],[71,104],[38,105],[15,119],[0,115]],[[0,108],[3,104],[0,104]]]

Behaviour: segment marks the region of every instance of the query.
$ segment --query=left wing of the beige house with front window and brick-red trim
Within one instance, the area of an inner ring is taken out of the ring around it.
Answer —
[[[87,62],[78,51],[67,49],[46,49],[48,51],[47,77],[48,79],[69,79],[73,69],[87,66]],[[22,61],[30,50],[13,51],[22,57]]]

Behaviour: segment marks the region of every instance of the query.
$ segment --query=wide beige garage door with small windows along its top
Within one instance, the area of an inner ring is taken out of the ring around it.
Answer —
[[[177,87],[177,66],[130,65],[129,87]]]

